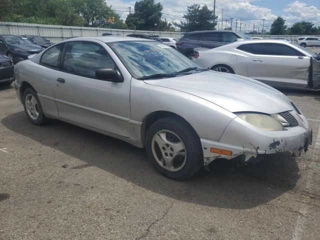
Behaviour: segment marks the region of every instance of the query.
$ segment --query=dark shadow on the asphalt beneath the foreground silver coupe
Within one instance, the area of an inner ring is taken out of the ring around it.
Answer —
[[[299,178],[294,158],[273,155],[241,167],[235,167],[233,161],[216,161],[209,172],[202,169],[188,180],[175,181],[155,170],[145,149],[121,140],[58,120],[34,126],[23,111],[7,115],[1,123],[15,133],[83,161],[78,166],[70,165],[69,170],[96,166],[149,191],[194,204],[251,208],[294,188]]]

